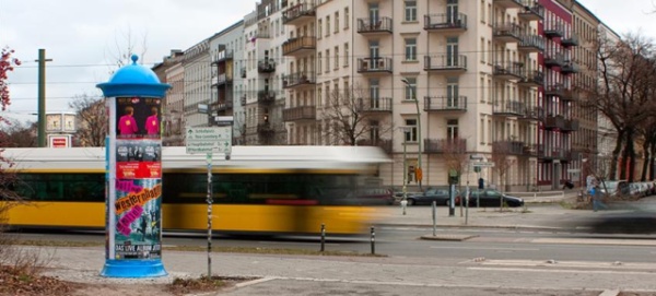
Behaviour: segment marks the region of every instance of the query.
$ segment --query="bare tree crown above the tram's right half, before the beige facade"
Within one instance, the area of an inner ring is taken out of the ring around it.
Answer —
[[[384,134],[391,138],[393,125],[379,125],[378,121],[379,114],[391,110],[391,98],[371,98],[363,93],[365,91],[360,88],[354,92],[335,90],[328,95],[319,118],[325,122],[321,133],[330,144],[391,143],[380,139]]]

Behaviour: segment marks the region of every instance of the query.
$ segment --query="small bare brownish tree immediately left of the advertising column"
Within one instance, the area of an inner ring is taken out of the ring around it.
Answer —
[[[109,131],[109,119],[103,98],[78,95],[69,103],[75,110],[78,131],[75,138],[80,146],[105,146],[105,137]]]

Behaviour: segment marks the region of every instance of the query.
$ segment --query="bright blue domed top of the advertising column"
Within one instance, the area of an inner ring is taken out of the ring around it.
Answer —
[[[96,86],[103,91],[105,97],[116,96],[144,96],[164,97],[171,85],[160,83],[160,79],[153,70],[137,64],[139,57],[132,55],[132,63],[120,68],[109,82],[99,83]]]

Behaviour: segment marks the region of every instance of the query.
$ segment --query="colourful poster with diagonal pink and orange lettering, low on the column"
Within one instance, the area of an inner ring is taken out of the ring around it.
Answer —
[[[162,256],[161,179],[116,179],[115,259]]]

